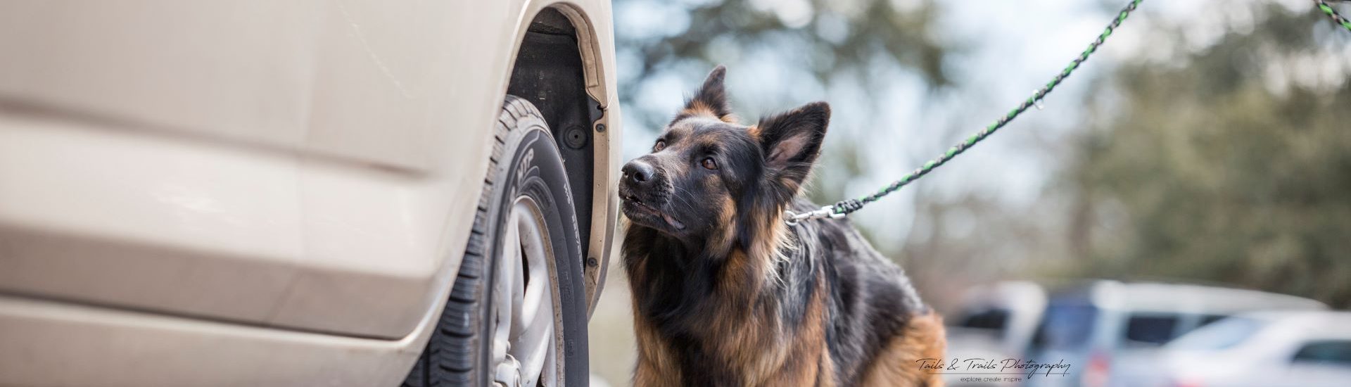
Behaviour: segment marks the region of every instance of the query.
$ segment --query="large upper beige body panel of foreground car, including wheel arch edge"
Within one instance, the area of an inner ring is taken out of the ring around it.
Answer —
[[[549,5],[580,24],[609,127],[604,264],[608,1],[0,4],[0,292],[407,340],[458,269]]]

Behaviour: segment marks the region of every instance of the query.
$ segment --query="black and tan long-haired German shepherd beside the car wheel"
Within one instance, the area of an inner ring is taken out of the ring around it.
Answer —
[[[789,226],[830,106],[739,124],[717,66],[623,168],[636,386],[940,386],[942,318],[846,219]]]

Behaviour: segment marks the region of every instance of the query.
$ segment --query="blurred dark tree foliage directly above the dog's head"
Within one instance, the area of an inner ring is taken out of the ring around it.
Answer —
[[[935,7],[929,0],[685,0],[684,7],[654,11],[659,20],[620,19],[624,7],[657,8],[655,0],[616,1],[616,46],[620,60],[638,60],[621,72],[620,101],[644,127],[662,127],[671,111],[638,103],[640,89],[662,73],[689,69],[703,76],[716,64],[774,51],[780,68],[808,73],[819,84],[854,77],[873,85],[871,68],[913,70],[932,87],[948,84],[943,70],[946,47],[929,31]],[[680,20],[680,22],[677,22]],[[662,28],[646,26],[653,22]],[[643,26],[630,26],[644,23]],[[666,28],[676,26],[673,28]],[[631,31],[624,31],[624,30]],[[650,31],[658,30],[658,31]],[[735,66],[734,66],[735,72]],[[734,76],[735,77],[735,73]],[[624,81],[630,80],[630,81]],[[785,80],[786,83],[788,80]],[[792,83],[811,80],[794,78]],[[692,80],[690,85],[697,85]],[[686,91],[688,92],[688,91]],[[780,91],[782,93],[782,91]],[[732,93],[734,101],[738,93]],[[636,110],[636,111],[634,111]]]

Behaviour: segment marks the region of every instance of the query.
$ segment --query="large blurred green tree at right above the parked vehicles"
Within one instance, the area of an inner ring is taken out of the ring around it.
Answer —
[[[1351,34],[1315,11],[1236,12],[1251,18],[1202,49],[1185,24],[1152,26],[1173,55],[1123,65],[1104,78],[1116,92],[1090,100],[1062,185],[1079,273],[1348,307]]]

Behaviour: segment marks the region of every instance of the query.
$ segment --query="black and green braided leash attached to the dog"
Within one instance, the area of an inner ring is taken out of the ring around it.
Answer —
[[[881,199],[882,196],[896,192],[897,189],[901,189],[901,187],[905,187],[905,184],[911,184],[911,181],[919,180],[920,177],[924,177],[924,175],[928,175],[934,169],[942,166],[943,164],[947,164],[947,161],[952,160],[958,154],[962,154],[962,152],[971,149],[971,146],[975,146],[977,142],[981,142],[990,134],[994,134],[994,131],[1008,124],[1011,120],[1021,115],[1028,108],[1034,106],[1040,108],[1039,103],[1042,101],[1042,99],[1046,97],[1046,95],[1050,93],[1052,89],[1055,89],[1056,85],[1065,81],[1065,78],[1069,77],[1070,73],[1074,72],[1074,69],[1078,69],[1079,65],[1084,64],[1084,61],[1088,61],[1089,55],[1096,53],[1098,46],[1101,46],[1102,42],[1112,35],[1112,31],[1115,31],[1116,27],[1121,26],[1121,22],[1125,22],[1125,18],[1129,16],[1131,12],[1140,5],[1140,1],[1144,0],[1132,0],[1129,4],[1125,4],[1125,8],[1121,8],[1121,12],[1117,12],[1116,18],[1112,19],[1112,23],[1106,26],[1106,30],[1104,30],[1102,34],[1100,34],[1097,39],[1094,39],[1093,43],[1090,43],[1089,47],[1084,50],[1084,53],[1075,57],[1074,61],[1070,61],[1069,66],[1065,66],[1065,69],[1061,70],[1059,74],[1055,74],[1055,77],[1051,78],[1051,81],[1047,83],[1046,87],[1036,89],[1036,92],[1034,92],[1031,97],[1024,100],[1021,104],[1009,111],[1006,115],[1001,116],[990,126],[986,126],[984,130],[966,138],[966,141],[950,147],[938,158],[924,162],[924,166],[920,166],[919,169],[915,169],[909,175],[902,176],[901,180],[896,180],[892,184],[882,187],[882,189],[878,189],[871,195],[858,199],[840,200],[836,202],[835,204],[824,206],[820,210],[808,212],[785,211],[786,215],[785,222],[788,222],[789,225],[797,225],[801,221],[821,219],[821,218],[842,218],[844,215],[848,215],[850,212],[858,211],[859,208],[863,208],[865,204],[877,202],[877,199]],[[1335,9],[1332,9],[1332,5],[1328,5],[1328,3],[1325,3],[1324,0],[1315,0],[1315,1],[1319,3],[1319,9],[1321,9],[1323,14],[1331,16],[1332,20],[1346,27],[1347,31],[1351,31],[1351,22],[1347,22],[1346,18],[1343,18]]]

